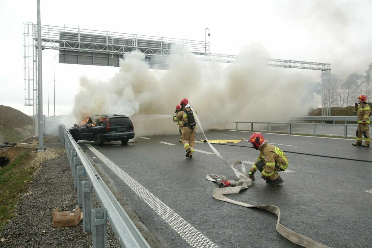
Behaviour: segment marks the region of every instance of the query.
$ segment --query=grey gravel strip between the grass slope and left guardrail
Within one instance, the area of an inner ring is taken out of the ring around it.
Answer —
[[[15,217],[0,232],[0,239],[4,240],[0,241],[0,247],[93,247],[92,233],[83,232],[83,220],[77,226],[53,227],[52,211],[56,207],[61,211],[74,209],[77,191],[59,137],[49,138],[45,146],[63,154],[41,162],[28,193],[18,203]],[[93,208],[98,207],[100,204],[93,194]],[[108,247],[120,247],[110,225]]]

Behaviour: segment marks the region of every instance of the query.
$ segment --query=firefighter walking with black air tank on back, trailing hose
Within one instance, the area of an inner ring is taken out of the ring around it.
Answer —
[[[184,98],[181,100],[181,110],[177,113],[177,120],[183,123],[182,144],[186,151],[186,158],[192,158],[195,148],[196,122],[194,113],[190,108],[189,101]]]

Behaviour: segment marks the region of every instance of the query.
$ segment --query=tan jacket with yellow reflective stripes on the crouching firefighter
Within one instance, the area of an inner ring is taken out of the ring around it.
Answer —
[[[259,161],[265,162],[266,166],[262,171],[262,177],[270,178],[273,174],[275,174],[275,167],[277,167],[276,169],[278,171],[286,170],[286,168],[288,167],[288,158],[282,150],[274,145],[269,145],[267,143],[263,144],[258,149],[260,151],[260,155],[257,158],[257,161],[254,162],[253,168],[257,170],[256,165]]]

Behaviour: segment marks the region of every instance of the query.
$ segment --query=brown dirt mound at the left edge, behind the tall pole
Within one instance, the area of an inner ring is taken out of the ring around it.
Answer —
[[[20,142],[33,135],[33,120],[19,110],[0,105],[0,144]]]

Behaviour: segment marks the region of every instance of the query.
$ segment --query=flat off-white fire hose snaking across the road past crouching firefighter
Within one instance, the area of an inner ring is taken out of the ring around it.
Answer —
[[[235,185],[236,185],[235,187],[225,187],[225,188],[214,189],[213,190],[213,198],[215,198],[217,200],[224,201],[224,202],[230,202],[230,203],[233,203],[233,204],[237,204],[237,205],[240,205],[240,206],[243,206],[243,207],[257,207],[257,208],[264,209],[264,210],[267,210],[269,212],[275,213],[276,216],[278,216],[278,220],[276,221],[276,231],[278,231],[280,233],[280,235],[282,235],[284,238],[288,239],[289,241],[293,242],[294,244],[298,244],[298,245],[301,245],[303,247],[308,247],[308,248],[326,248],[326,247],[328,247],[328,246],[323,245],[323,244],[321,244],[321,243],[319,243],[319,242],[317,242],[313,239],[307,238],[307,237],[305,237],[305,236],[303,236],[299,233],[296,233],[296,232],[286,228],[282,224],[280,224],[280,209],[279,209],[279,207],[277,207],[275,205],[259,205],[259,206],[250,205],[248,203],[231,200],[231,199],[227,198],[226,196],[224,196],[225,194],[237,194],[241,190],[248,189],[248,186],[252,185],[252,180],[248,177],[248,174],[247,174],[247,171],[246,171],[246,168],[245,168],[243,162],[235,161],[230,165],[222,157],[222,155],[214,148],[214,146],[212,146],[212,144],[209,142],[208,138],[205,136],[205,133],[204,133],[203,127],[200,123],[198,115],[196,114],[196,112],[194,111],[194,109],[192,107],[191,107],[191,109],[194,112],[195,120],[198,123],[199,128],[201,129],[201,131],[202,131],[202,133],[205,137],[205,140],[207,141],[208,145],[211,147],[212,151],[214,151],[214,153],[222,161],[224,161],[225,164],[227,164],[230,168],[232,168],[235,175],[240,179],[239,181],[237,181],[235,183]],[[235,168],[235,165],[238,165],[238,164],[241,165],[241,172],[238,171]],[[217,179],[219,179],[221,177],[225,178],[224,175],[207,174],[206,179],[208,179],[209,181],[216,181]]]

